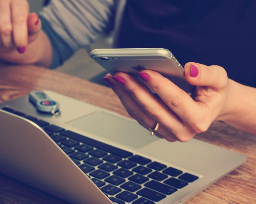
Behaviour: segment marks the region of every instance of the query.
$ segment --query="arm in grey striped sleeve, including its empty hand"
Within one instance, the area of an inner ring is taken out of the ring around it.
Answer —
[[[106,30],[113,9],[113,0],[52,0],[40,20],[26,0],[0,0],[0,59],[55,68]]]

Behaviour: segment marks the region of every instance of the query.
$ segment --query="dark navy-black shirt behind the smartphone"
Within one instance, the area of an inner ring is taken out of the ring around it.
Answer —
[[[118,45],[166,48],[256,87],[256,1],[127,0]]]

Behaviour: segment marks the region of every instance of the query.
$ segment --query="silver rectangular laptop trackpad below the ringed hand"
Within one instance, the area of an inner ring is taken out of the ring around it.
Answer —
[[[103,111],[90,113],[66,124],[132,148],[142,148],[158,140],[137,122]]]

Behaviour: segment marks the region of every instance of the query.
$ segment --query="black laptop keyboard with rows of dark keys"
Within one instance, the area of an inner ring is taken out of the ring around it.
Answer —
[[[153,204],[198,179],[196,175],[134,155],[12,108],[2,109],[39,125],[115,203]]]

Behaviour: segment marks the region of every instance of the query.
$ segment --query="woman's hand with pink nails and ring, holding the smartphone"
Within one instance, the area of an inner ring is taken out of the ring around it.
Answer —
[[[130,116],[146,129],[160,124],[155,134],[168,141],[186,142],[205,132],[214,120],[229,114],[230,79],[220,66],[185,65],[187,81],[196,86],[192,96],[160,73],[141,70],[142,82],[126,73],[106,75],[104,80],[118,95]]]

